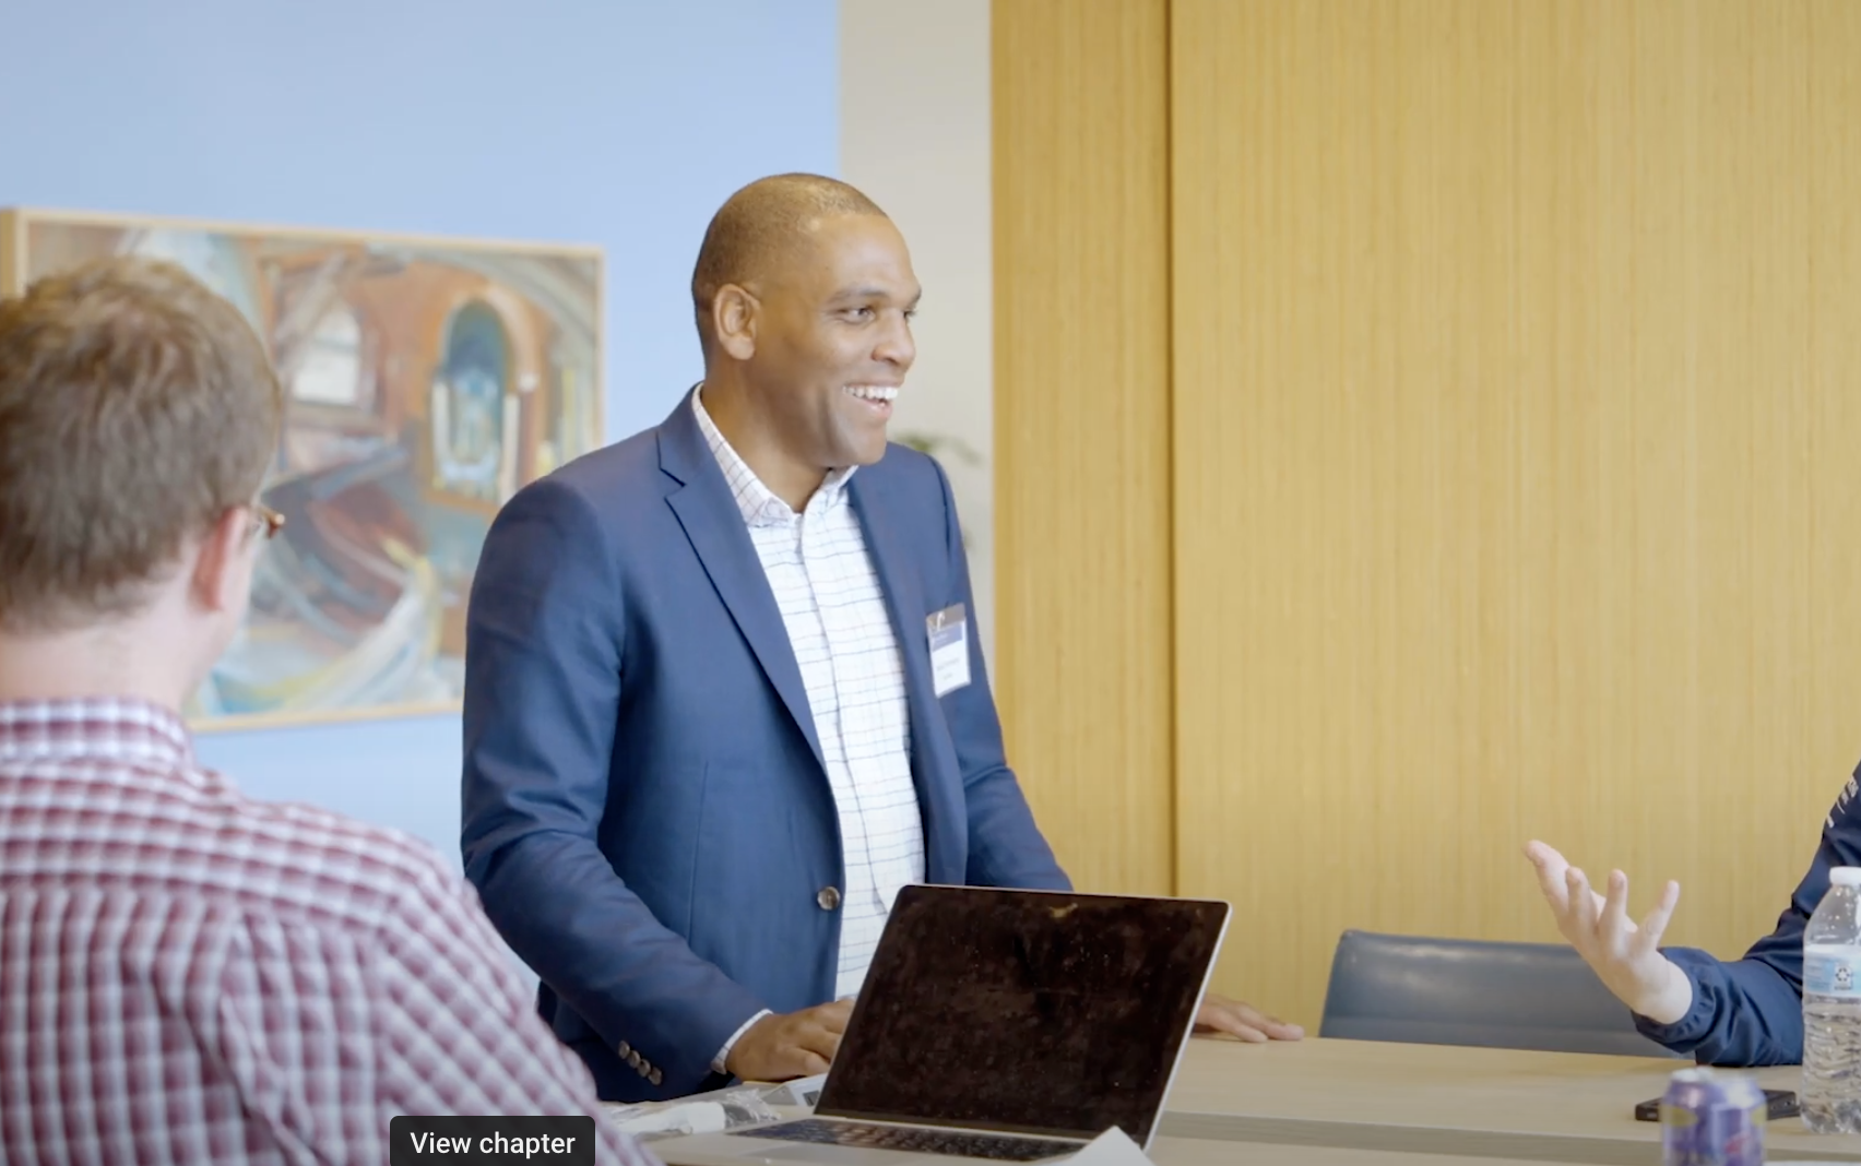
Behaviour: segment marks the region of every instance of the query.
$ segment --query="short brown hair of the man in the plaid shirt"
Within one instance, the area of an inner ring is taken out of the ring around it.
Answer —
[[[175,264],[93,260],[0,301],[0,629],[140,608],[253,502],[281,411],[251,325]]]

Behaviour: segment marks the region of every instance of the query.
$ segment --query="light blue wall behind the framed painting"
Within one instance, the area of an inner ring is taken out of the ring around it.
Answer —
[[[4,0],[0,205],[592,242],[607,430],[698,379],[687,281],[743,182],[837,171],[836,0]],[[261,798],[458,861],[458,718],[210,735]]]

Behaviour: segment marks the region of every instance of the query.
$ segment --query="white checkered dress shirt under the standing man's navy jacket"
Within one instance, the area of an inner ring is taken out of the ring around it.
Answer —
[[[847,498],[852,470],[828,474],[808,508],[795,513],[730,448],[698,398],[694,392],[698,426],[776,593],[839,809],[847,868],[836,995],[847,997],[865,980],[899,887],[925,880],[904,660]]]

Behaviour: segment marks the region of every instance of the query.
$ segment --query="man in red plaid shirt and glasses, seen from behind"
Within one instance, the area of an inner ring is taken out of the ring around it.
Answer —
[[[194,761],[179,710],[283,524],[257,500],[281,405],[179,268],[0,303],[9,1162],[387,1162],[398,1114],[599,1112],[435,854]]]

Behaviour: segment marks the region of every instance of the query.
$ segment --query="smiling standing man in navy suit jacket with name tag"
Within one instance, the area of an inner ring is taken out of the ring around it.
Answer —
[[[491,526],[465,874],[603,1097],[824,1071],[906,883],[1068,887],[1003,757],[949,482],[886,443],[917,296],[860,192],[746,186],[692,277],[703,383]]]

